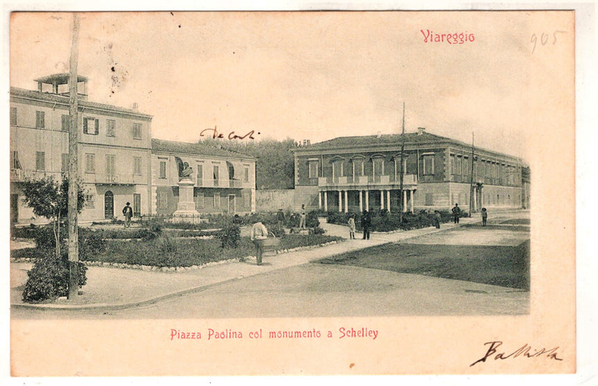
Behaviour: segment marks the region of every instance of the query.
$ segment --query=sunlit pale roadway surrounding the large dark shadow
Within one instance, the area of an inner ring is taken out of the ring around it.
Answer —
[[[500,229],[462,226],[415,237],[421,246],[516,246],[529,239],[528,212],[497,215]],[[492,224],[492,221],[491,221]],[[346,228],[324,224],[331,234]],[[382,237],[383,235],[380,235]],[[376,237],[376,235],[373,235]],[[361,240],[355,240],[360,242]],[[401,244],[394,244],[401,255]],[[410,249],[413,251],[413,249]],[[300,252],[299,252],[300,253]],[[412,253],[412,252],[411,252]],[[284,255],[267,256],[282,259]],[[372,257],[375,260],[375,256]],[[460,256],[462,258],[462,256]],[[239,264],[239,263],[237,263]],[[207,272],[206,272],[207,273]],[[173,277],[173,280],[176,280]],[[210,285],[122,310],[13,309],[18,319],[177,319],[527,314],[529,292],[473,281],[350,265],[305,264]]]

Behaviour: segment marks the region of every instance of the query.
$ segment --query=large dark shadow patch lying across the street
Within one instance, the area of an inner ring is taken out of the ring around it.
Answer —
[[[385,244],[319,260],[529,290],[529,240],[518,246]]]

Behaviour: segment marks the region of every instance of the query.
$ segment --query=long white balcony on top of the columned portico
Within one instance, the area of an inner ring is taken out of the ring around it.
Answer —
[[[399,176],[343,176],[343,177],[320,177],[318,178],[318,187],[323,189],[398,189],[401,185]],[[411,188],[417,185],[417,175],[404,174],[403,187]]]

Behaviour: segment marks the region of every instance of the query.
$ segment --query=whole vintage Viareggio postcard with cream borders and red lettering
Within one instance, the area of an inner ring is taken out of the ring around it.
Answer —
[[[11,375],[574,373],[574,21],[11,13]]]

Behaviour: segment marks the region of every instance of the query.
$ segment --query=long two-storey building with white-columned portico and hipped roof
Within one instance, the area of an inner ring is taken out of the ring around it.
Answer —
[[[522,160],[426,133],[339,137],[295,150],[296,207],[393,212],[520,208]],[[401,197],[401,169],[403,196]],[[473,173],[473,177],[472,177]],[[401,202],[402,201],[402,202]],[[402,205],[401,205],[402,204]],[[401,205],[401,206],[400,206]]]

